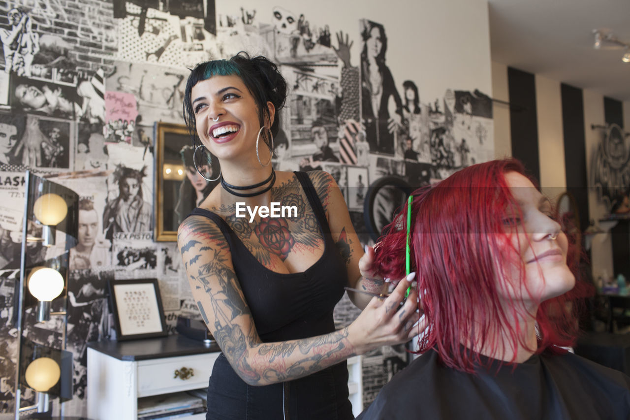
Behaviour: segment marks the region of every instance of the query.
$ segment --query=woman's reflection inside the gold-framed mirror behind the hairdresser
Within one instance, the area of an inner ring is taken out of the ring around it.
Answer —
[[[208,178],[212,178],[212,169],[209,165],[199,165],[200,172],[197,172],[193,161],[194,151],[192,146],[184,146],[180,150],[181,163],[183,163],[186,178],[181,182],[180,195],[175,206],[178,226],[188,213],[198,207],[218,184],[217,181],[208,180]]]

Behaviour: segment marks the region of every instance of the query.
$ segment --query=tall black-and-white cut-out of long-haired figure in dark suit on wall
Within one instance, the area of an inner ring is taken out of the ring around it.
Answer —
[[[394,132],[401,123],[403,103],[394,78],[385,64],[387,37],[380,23],[364,20],[361,52],[361,103],[370,151],[394,154]],[[394,99],[396,114],[389,115],[389,100]]]

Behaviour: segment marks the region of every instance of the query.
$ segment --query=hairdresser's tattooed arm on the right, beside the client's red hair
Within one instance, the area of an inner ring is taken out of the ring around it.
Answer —
[[[385,289],[382,278],[364,277],[359,270],[359,260],[364,259],[365,253],[352,226],[348,207],[337,183],[329,173],[323,171],[309,172],[309,177],[326,211],[333,240],[339,248],[341,257],[345,260],[348,285],[355,289],[381,293]],[[370,296],[363,293],[348,292],[348,296],[361,309],[365,308],[371,300]]]

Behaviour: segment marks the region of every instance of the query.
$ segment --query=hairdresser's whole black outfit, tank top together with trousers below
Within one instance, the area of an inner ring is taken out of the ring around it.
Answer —
[[[324,253],[304,272],[280,274],[261,264],[218,214],[194,209],[212,219],[225,236],[234,271],[264,342],[327,334],[335,330],[333,310],[348,283],[330,228],[308,175],[295,172],[324,238]],[[352,419],[346,362],[298,380],[252,387],[234,372],[221,354],[208,388],[207,419]],[[289,416],[286,417],[289,419]]]

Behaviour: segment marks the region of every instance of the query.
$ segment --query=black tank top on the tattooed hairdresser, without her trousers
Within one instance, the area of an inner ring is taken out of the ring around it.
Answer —
[[[316,190],[306,173],[295,172],[295,176],[324,238],[324,253],[304,272],[281,274],[268,269],[221,216],[200,208],[191,213],[212,219],[226,237],[234,272],[262,341],[301,339],[334,331],[333,309],[348,283],[345,263],[331,237]]]

